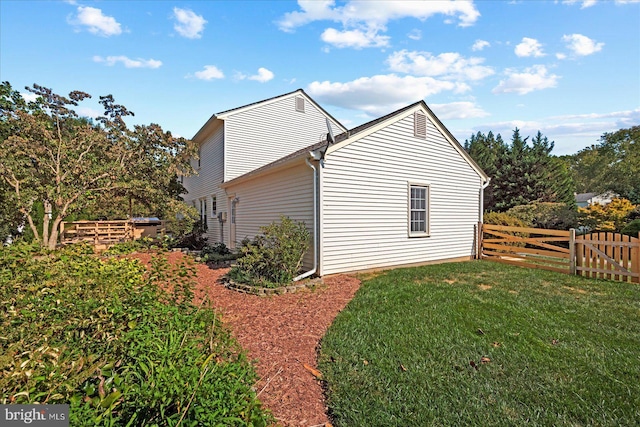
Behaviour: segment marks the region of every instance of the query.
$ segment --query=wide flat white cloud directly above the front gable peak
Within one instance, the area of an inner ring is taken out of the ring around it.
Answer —
[[[361,77],[345,83],[314,81],[307,87],[309,95],[318,101],[364,111],[374,117],[443,91],[468,90],[470,87],[465,83],[395,74]]]

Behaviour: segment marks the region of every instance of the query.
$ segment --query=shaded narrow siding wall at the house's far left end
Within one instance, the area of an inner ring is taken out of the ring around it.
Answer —
[[[199,200],[205,200],[207,206],[212,206],[212,197],[216,197],[218,201],[218,212],[225,210],[224,203],[219,202],[225,200],[224,191],[219,188],[224,174],[223,139],[223,126],[219,125],[200,146],[202,167],[197,171],[197,175],[184,177],[183,186],[187,190],[187,194],[184,194],[183,197],[187,202],[193,201],[193,206],[198,210],[200,208]],[[192,165],[197,167],[198,161],[192,160]],[[226,228],[224,231],[226,232]],[[214,215],[207,215],[205,237],[209,239],[209,243],[216,243],[222,239],[220,223]]]

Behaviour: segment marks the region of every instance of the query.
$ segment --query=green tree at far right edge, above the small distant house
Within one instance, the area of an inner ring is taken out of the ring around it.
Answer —
[[[613,191],[640,204],[640,126],[605,133],[566,161],[578,192]]]

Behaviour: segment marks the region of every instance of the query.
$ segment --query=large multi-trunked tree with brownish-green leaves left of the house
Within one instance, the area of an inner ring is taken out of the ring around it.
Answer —
[[[26,89],[34,102],[20,100],[8,82],[0,86],[0,212],[9,200],[43,247],[56,247],[60,222],[71,215],[122,218],[135,201],[162,216],[167,200],[179,198],[176,175],[190,172],[192,142],[156,124],[129,128],[124,119],[133,113],[111,95],[100,97],[96,123],[75,111],[87,93]]]

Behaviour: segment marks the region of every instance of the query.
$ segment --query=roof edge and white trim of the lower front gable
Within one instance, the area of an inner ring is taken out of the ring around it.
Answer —
[[[478,173],[478,175],[483,179],[483,181],[488,182],[489,176],[482,170],[480,166],[471,158],[469,153],[460,145],[458,140],[449,132],[449,130],[442,124],[442,122],[436,117],[436,115],[431,111],[431,109],[427,106],[424,101],[417,101],[413,104],[407,105],[399,110],[393,111],[385,116],[379,117],[377,119],[371,120],[370,122],[361,124],[360,126],[356,126],[355,128],[338,134],[335,136],[335,143],[329,145],[327,147],[326,154],[330,154],[333,151],[339,150],[342,147],[345,147],[352,142],[355,142],[368,134],[371,134],[378,130],[379,128],[386,127],[394,121],[400,120],[403,113],[410,112],[411,110],[415,111],[417,109],[423,109],[429,118],[432,120],[433,124],[440,130],[445,139],[453,146],[453,148],[460,153],[460,155],[469,163],[469,166],[473,170]],[[284,157],[281,157],[278,160],[275,160],[271,163],[268,163],[258,169],[254,169],[250,172],[245,173],[239,177],[236,177],[230,181],[227,181],[222,184],[222,188],[227,186],[236,184],[241,181],[246,181],[251,179],[254,176],[261,175],[270,169],[275,169],[281,166],[288,165],[290,163],[294,163],[296,160],[300,158],[308,157],[309,153],[314,150],[318,150],[320,148],[326,147],[328,141],[325,139],[323,141],[317,142],[315,144],[309,145],[308,147],[302,148],[298,151],[295,151],[291,154],[288,154]]]

